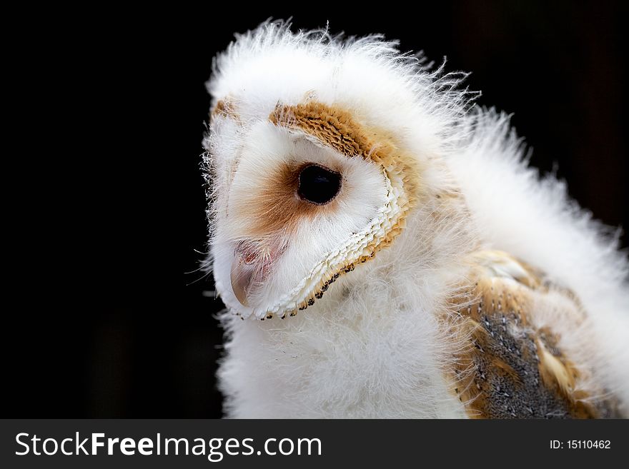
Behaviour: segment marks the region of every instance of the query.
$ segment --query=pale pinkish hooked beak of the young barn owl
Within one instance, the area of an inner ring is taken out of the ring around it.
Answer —
[[[262,287],[272,265],[284,253],[286,247],[269,241],[239,241],[234,248],[234,261],[230,280],[234,296],[249,306],[252,293]]]

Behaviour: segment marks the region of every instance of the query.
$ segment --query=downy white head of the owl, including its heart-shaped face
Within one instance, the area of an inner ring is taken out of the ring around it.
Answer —
[[[380,36],[271,22],[217,56],[204,162],[217,291],[243,318],[286,318],[378,262],[447,184],[459,75]]]

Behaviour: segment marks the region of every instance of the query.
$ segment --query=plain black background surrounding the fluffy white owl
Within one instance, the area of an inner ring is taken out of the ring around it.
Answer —
[[[557,165],[596,218],[629,226],[620,2],[342,5],[6,16],[17,26],[11,76],[26,94],[13,119],[19,158],[4,172],[19,181],[4,228],[5,258],[16,258],[5,264],[5,416],[222,415],[222,304],[194,272],[207,232],[204,81],[234,32],[269,17],[294,16],[294,29],[329,20],[333,33],[382,32],[404,51],[447,56],[448,70],[472,71],[480,104],[514,113],[535,166]]]

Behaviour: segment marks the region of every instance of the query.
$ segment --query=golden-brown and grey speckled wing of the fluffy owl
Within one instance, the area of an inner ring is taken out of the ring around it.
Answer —
[[[562,334],[586,318],[573,292],[501,251],[472,254],[470,281],[454,301],[451,323],[464,344],[455,357],[454,390],[470,417],[617,415],[617,404],[593,388],[590,371],[560,345]],[[551,330],[540,311],[570,324]]]

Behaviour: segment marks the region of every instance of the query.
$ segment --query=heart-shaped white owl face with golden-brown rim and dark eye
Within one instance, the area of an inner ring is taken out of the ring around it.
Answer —
[[[243,119],[219,101],[207,162],[217,290],[243,317],[294,315],[402,230],[417,168],[340,104],[277,104]]]

